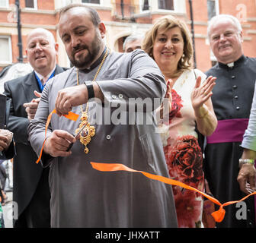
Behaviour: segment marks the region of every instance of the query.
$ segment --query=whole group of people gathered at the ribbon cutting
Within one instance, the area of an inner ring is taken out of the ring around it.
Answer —
[[[27,36],[34,71],[4,85],[0,159],[14,157],[15,228],[207,226],[197,192],[90,162],[173,178],[221,202],[255,191],[256,58],[243,54],[235,17],[210,21],[218,62],[206,73],[193,66],[187,25],[171,15],[127,37],[123,53],[106,46],[104,23],[85,5],[62,8],[58,30],[72,68],[56,64],[59,44],[38,28]],[[245,203],[245,218],[230,205],[216,227],[255,227],[254,197]]]

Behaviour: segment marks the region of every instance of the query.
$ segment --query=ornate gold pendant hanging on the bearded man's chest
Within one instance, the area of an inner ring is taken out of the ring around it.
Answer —
[[[87,123],[84,130],[80,134],[80,142],[81,144],[85,145],[85,150],[84,150],[85,153],[89,153],[87,145],[91,142],[91,137],[94,137],[95,135],[95,128],[94,126],[91,126],[90,123],[88,122],[87,112],[82,112],[80,119],[81,119],[81,122],[79,124],[79,128],[77,128],[75,132],[77,132],[80,128],[82,128],[83,125]]]

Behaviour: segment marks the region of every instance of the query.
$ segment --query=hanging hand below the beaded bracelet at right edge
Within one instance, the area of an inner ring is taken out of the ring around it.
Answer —
[[[255,187],[255,175],[256,170],[254,165],[243,164],[239,173],[238,173],[238,183],[241,191],[245,194],[250,194],[253,191],[256,191]]]

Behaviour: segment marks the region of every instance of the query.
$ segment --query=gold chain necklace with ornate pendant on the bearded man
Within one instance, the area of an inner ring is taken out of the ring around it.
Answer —
[[[108,54],[108,49],[104,55],[104,58],[101,61],[100,66],[98,67],[98,71],[94,75],[92,82],[94,80],[96,80],[96,77],[98,76],[99,72],[101,71],[102,65],[104,64],[105,59],[107,58],[107,54]],[[79,85],[79,70],[78,70],[78,68],[76,68],[76,81],[77,81],[77,85]],[[91,137],[94,137],[94,135],[95,135],[95,128],[94,128],[94,126],[91,126],[90,123],[88,122],[88,103],[86,104],[85,112],[82,109],[82,105],[80,106],[80,109],[81,109],[81,118],[80,118],[81,122],[79,124],[79,128],[77,128],[75,130],[75,133],[77,133],[78,130],[80,128],[82,128],[83,125],[85,125],[84,130],[80,134],[80,142],[81,142],[81,144],[85,145],[84,152],[89,153],[87,145],[91,142]]]

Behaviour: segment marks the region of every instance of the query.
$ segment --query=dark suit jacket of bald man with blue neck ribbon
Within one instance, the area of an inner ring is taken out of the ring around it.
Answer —
[[[65,71],[56,65],[55,75]],[[23,106],[29,103],[34,96],[34,90],[40,92],[34,71],[24,77],[5,82],[5,94],[11,98],[10,114],[8,118],[8,130],[14,133],[14,141],[17,155],[14,156],[14,181],[13,200],[18,203],[18,215],[20,216],[33,197],[37,184],[40,181],[43,168],[36,164],[37,154],[34,153],[27,141],[27,127],[29,120]],[[46,188],[49,185],[46,185]],[[47,204],[50,204],[50,198]]]

